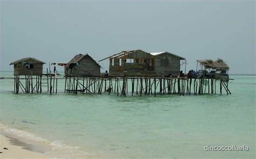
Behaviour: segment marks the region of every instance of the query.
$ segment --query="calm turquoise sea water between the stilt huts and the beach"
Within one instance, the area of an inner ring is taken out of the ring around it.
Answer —
[[[12,77],[12,72],[0,77]],[[1,122],[15,128],[12,133],[47,140],[68,152],[58,154],[56,148],[49,156],[255,158],[256,77],[231,78],[231,95],[156,98],[68,94],[64,80],[59,80],[58,94],[15,94],[14,81],[4,79]],[[249,151],[205,151],[207,144],[245,145]]]

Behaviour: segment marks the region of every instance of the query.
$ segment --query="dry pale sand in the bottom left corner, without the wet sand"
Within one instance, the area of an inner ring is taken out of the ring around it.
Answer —
[[[0,158],[49,158],[42,153],[29,150],[29,144],[0,134]]]

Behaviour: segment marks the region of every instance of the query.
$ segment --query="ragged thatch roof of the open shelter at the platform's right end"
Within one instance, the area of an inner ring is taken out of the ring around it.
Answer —
[[[228,65],[222,59],[218,59],[218,60],[206,59],[206,60],[198,60],[198,62],[200,63],[200,65],[205,66],[205,68],[212,68],[212,69],[216,69],[217,71],[230,69],[230,67],[228,67]]]

